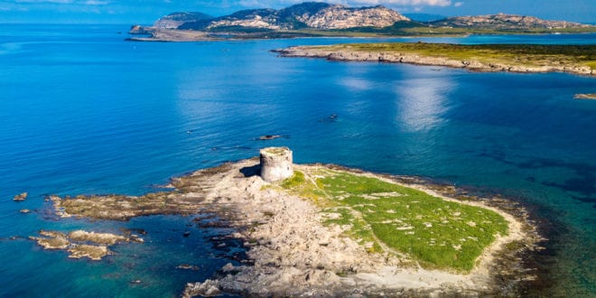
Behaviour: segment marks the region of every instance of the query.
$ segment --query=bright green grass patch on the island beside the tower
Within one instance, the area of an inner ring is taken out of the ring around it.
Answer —
[[[470,271],[507,221],[497,212],[349,172],[295,171],[280,186],[315,200],[326,224],[347,229],[370,252],[406,255],[428,268]]]

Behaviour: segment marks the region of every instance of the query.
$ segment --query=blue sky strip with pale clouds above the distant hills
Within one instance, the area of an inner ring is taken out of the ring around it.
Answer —
[[[301,0],[0,0],[0,23],[151,24],[172,12],[214,16],[251,8],[284,8]],[[596,23],[596,0],[330,0],[353,7],[385,5],[402,14],[523,14]]]

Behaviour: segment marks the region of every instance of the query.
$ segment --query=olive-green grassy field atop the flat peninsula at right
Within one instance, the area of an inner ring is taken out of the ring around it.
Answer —
[[[316,47],[330,51],[368,51],[416,54],[456,61],[479,61],[509,66],[587,66],[596,70],[596,45],[452,44],[386,42]]]

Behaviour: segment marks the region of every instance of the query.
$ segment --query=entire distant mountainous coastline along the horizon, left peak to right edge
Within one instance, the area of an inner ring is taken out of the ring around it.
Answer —
[[[305,2],[283,9],[248,9],[234,14],[213,17],[198,12],[168,14],[153,27],[133,26],[130,33],[155,36],[170,34],[169,39],[187,40],[188,36],[168,32],[170,29],[234,33],[239,38],[289,38],[321,36],[318,31],[333,30],[337,34],[371,34],[387,36],[414,36],[450,33],[532,32],[596,32],[596,26],[565,21],[546,21],[534,16],[517,14],[488,14],[444,18],[436,14],[399,14],[382,5],[348,7],[322,2]],[[442,18],[436,20],[437,18]],[[415,20],[415,21],[414,21]],[[311,29],[309,31],[295,30]],[[158,34],[159,33],[159,34]],[[329,33],[323,35],[329,36]],[[211,36],[211,37],[213,37]],[[202,37],[201,37],[202,38]]]

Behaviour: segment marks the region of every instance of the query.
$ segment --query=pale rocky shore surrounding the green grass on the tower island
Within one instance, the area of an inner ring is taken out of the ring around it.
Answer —
[[[307,173],[320,169],[347,171],[405,184],[445,200],[495,210],[509,222],[506,237],[480,256],[468,274],[423,268],[405,256],[369,253],[345,228],[323,225],[324,214],[311,200],[280,191],[258,175],[258,159],[225,163],[172,179],[174,191],[142,197],[52,197],[62,217],[126,220],[150,214],[216,214],[247,248],[245,265],[228,264],[219,275],[188,284],[184,296],[242,295],[479,295],[509,293],[535,278],[520,263],[520,254],[539,249],[541,240],[526,211],[508,200],[480,200],[452,186],[411,177],[375,175],[331,165],[294,165]],[[450,198],[448,198],[450,197]],[[459,199],[451,199],[458,197]],[[490,207],[489,204],[493,205]],[[497,207],[495,207],[497,206]],[[507,207],[508,212],[500,207]],[[512,207],[513,206],[513,207]],[[109,212],[106,212],[109,210]],[[512,245],[513,244],[513,245]],[[251,264],[251,265],[247,265]],[[505,291],[505,292],[504,292]]]

